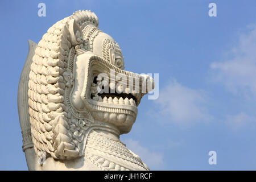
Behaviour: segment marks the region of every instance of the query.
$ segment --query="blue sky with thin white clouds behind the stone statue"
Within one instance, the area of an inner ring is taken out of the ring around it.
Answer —
[[[46,17],[38,4],[46,3]],[[217,5],[209,17],[208,5]],[[144,97],[121,136],[150,169],[256,169],[256,2],[1,1],[0,169],[27,170],[17,90],[28,53],[55,22],[92,10],[136,73],[159,73],[159,98]],[[217,164],[208,164],[208,152]]]

